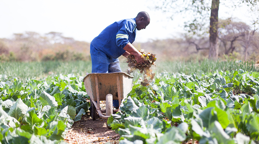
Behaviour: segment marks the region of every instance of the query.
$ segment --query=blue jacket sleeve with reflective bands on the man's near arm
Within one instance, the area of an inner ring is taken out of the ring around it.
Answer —
[[[118,47],[124,48],[127,43],[129,43],[129,35],[134,32],[135,28],[136,26],[133,22],[126,21],[116,34],[116,45]]]

